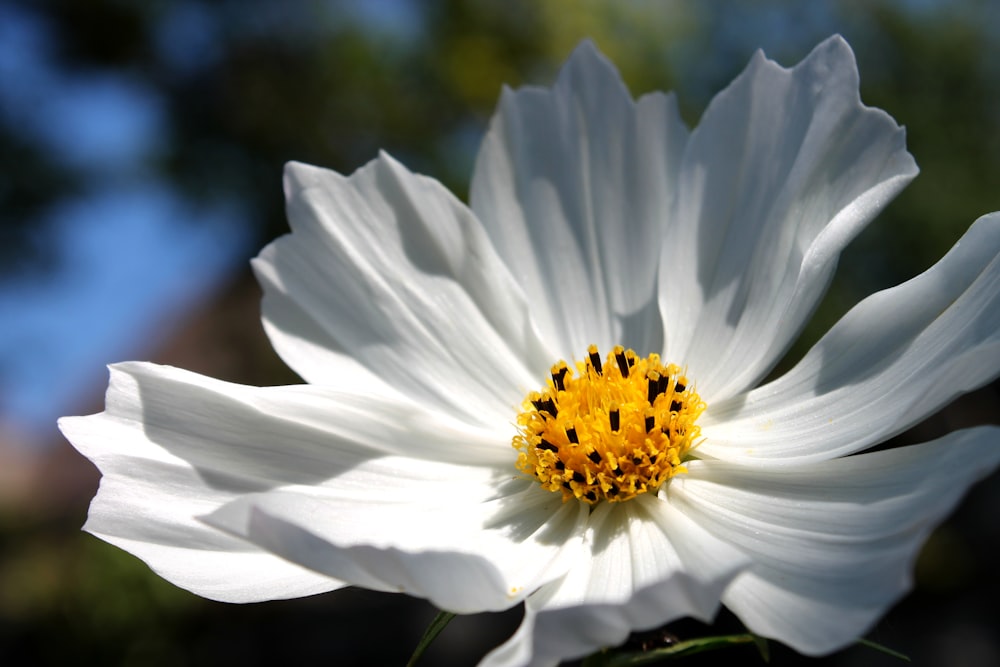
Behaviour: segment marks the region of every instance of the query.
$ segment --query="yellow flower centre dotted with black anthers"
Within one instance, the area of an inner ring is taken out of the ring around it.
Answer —
[[[657,354],[596,345],[576,372],[560,361],[542,391],[528,394],[513,445],[518,470],[563,501],[620,502],[655,491],[674,475],[701,433],[705,404],[683,371]]]

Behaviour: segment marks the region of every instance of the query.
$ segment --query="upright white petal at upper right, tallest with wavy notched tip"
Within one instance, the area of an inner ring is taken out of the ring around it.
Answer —
[[[840,251],[917,173],[861,104],[840,37],[794,69],[760,52],[692,133],[663,245],[667,353],[711,402],[752,387],[819,302]]]

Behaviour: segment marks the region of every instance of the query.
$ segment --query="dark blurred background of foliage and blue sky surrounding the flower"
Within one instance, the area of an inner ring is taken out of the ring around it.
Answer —
[[[349,173],[385,149],[465,197],[501,85],[549,84],[581,38],[633,94],[676,90],[693,126],[755,49],[792,65],[835,32],[863,100],[906,125],[922,171],[843,257],[786,366],[1000,209],[1000,4],[0,0],[0,663],[403,664],[435,613],[421,601],[227,606],[81,533],[97,474],[55,419],[100,411],[104,366],[124,359],[297,381],[263,336],[248,269],[287,230],[287,160]],[[998,407],[994,384],[897,442],[997,423]],[[870,638],[919,664],[1000,664],[997,512],[994,476],[934,534],[915,593]],[[426,664],[474,663],[519,613],[456,620]],[[747,649],[720,664],[735,659],[759,662]],[[776,648],[772,664],[897,661]]]

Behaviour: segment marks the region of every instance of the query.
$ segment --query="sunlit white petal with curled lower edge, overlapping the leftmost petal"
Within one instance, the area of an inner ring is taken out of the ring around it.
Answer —
[[[457,613],[509,608],[566,571],[582,503],[507,474],[442,483],[442,464],[421,479],[412,463],[378,460],[322,489],[244,496],[205,519],[317,572]]]

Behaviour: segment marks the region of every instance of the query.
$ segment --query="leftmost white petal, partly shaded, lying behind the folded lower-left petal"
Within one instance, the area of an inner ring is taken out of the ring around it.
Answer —
[[[103,413],[64,418],[59,426],[103,473],[84,528],[178,586],[229,602],[297,597],[343,584],[196,517],[245,493],[328,483],[402,451],[457,461],[449,474],[459,479],[492,475],[512,458],[504,437],[401,397],[306,386],[259,389],[138,363],[111,368]]]

